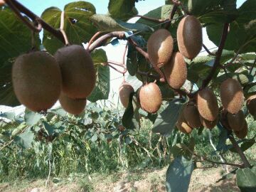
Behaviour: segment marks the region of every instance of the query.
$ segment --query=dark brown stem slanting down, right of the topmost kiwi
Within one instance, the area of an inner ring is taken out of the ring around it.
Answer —
[[[215,71],[217,70],[218,66],[220,65],[220,58],[221,58],[221,55],[223,53],[226,38],[228,36],[228,27],[229,27],[229,23],[225,23],[224,26],[223,26],[223,32],[222,32],[222,36],[221,36],[221,40],[220,40],[220,45],[219,45],[217,53],[216,53],[213,68],[210,70],[210,73],[207,76],[207,78],[205,80],[203,80],[203,84],[201,86],[201,89],[207,87],[208,83],[213,78],[213,75],[214,75]]]

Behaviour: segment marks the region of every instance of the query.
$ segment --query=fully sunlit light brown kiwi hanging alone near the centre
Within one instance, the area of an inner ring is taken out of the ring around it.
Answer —
[[[139,90],[139,102],[142,109],[146,112],[157,112],[162,102],[159,86],[154,82],[143,85]]]

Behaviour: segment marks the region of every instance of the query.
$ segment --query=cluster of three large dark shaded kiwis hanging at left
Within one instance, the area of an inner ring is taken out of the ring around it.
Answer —
[[[80,114],[95,87],[96,74],[90,53],[71,45],[55,55],[31,50],[16,58],[12,83],[16,97],[29,110],[41,112],[57,100],[70,114]]]

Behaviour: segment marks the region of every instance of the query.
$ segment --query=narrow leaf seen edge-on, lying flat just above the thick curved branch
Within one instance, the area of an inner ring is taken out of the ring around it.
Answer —
[[[154,31],[152,28],[142,23],[126,23],[102,14],[93,15],[91,20],[99,31]]]

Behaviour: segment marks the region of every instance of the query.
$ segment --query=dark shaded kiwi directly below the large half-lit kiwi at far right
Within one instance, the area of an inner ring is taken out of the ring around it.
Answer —
[[[237,114],[227,114],[228,124],[234,131],[240,131],[245,123],[245,114],[240,110]]]

